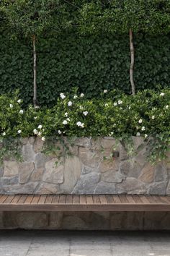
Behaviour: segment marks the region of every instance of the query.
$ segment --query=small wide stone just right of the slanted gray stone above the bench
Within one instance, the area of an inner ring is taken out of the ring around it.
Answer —
[[[103,182],[115,182],[120,183],[122,182],[122,179],[125,179],[125,176],[120,174],[118,171],[106,171],[104,174],[102,174],[101,180]]]

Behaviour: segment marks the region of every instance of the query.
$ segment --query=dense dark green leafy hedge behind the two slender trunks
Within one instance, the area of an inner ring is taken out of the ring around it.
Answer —
[[[135,35],[137,90],[170,84],[170,38]],[[0,35],[0,92],[19,88],[25,103],[32,103],[32,45]],[[78,86],[88,98],[99,90],[120,88],[130,93],[128,35],[79,37],[75,33],[37,42],[37,99],[54,105],[59,93]]]

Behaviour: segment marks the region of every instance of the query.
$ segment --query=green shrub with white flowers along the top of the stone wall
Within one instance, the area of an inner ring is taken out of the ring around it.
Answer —
[[[100,99],[86,100],[73,90],[61,93],[53,108],[22,109],[17,93],[0,96],[0,137],[142,136],[155,158],[164,158],[170,144],[170,90],[144,90],[135,96],[104,90]],[[152,155],[152,154],[151,154]]]

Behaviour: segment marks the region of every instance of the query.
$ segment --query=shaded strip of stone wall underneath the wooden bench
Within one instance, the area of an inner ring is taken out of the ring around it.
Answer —
[[[170,230],[170,213],[4,212],[0,229]]]

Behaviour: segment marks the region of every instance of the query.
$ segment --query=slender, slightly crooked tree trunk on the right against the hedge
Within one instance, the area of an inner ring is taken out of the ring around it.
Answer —
[[[132,87],[132,93],[133,95],[135,95],[135,84],[134,84],[134,81],[133,81],[133,67],[134,67],[134,46],[133,46],[133,31],[129,30],[129,38],[130,38],[130,59],[131,59],[131,62],[130,62],[130,84],[131,84],[131,87]]]

